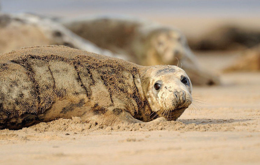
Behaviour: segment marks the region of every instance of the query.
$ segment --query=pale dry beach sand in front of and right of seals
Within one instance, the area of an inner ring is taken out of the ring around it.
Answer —
[[[218,70],[232,57],[199,59]],[[201,108],[177,121],[106,127],[73,118],[0,130],[0,164],[259,164],[260,73],[221,78],[222,86],[195,86]]]

